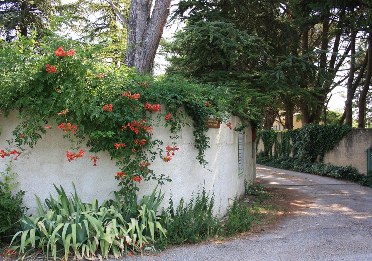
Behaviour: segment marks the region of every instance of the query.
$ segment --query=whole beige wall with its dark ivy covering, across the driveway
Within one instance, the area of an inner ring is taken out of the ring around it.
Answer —
[[[262,130],[256,139],[257,163],[359,182],[367,173],[365,150],[372,146],[371,134],[346,125]]]

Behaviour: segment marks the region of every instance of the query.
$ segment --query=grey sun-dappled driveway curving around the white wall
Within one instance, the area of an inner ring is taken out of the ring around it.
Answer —
[[[174,247],[126,260],[372,260],[372,189],[257,165],[257,181],[294,195],[291,214],[267,234]],[[291,191],[290,191],[291,190]]]

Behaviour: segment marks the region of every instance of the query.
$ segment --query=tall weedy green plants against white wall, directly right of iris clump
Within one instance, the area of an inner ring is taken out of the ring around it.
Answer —
[[[214,194],[203,187],[184,206],[183,198],[174,209],[170,198],[169,206],[161,215],[161,224],[167,228],[167,245],[181,245],[186,242],[201,242],[217,234],[219,221],[213,215]]]

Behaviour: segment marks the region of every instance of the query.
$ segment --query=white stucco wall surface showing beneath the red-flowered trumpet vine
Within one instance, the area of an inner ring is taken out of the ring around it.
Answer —
[[[16,118],[15,113],[8,118],[0,117],[0,125],[3,132],[0,136],[0,149],[9,148],[6,140],[12,137],[12,131],[20,120]],[[239,119],[231,117],[233,126],[237,126]],[[171,133],[168,128],[154,127],[153,138],[164,141],[164,148],[170,144],[169,136]],[[89,149],[82,146],[86,151],[83,159],[68,162],[65,151],[71,146],[67,139],[62,138],[63,132],[54,127],[48,130],[47,134],[42,135],[33,149],[27,149],[19,156],[16,166],[12,168],[13,172],[19,174],[17,180],[19,186],[17,189],[26,191],[24,203],[33,212],[36,206],[35,196],[44,200],[55,194],[53,183],[62,185],[68,192],[72,191],[71,182],[76,185],[77,193],[85,202],[90,202],[97,198],[99,203],[106,198],[108,194],[118,189],[118,181],[114,179],[115,173],[119,170],[115,166],[115,160],[110,160],[107,152],[97,153],[100,160],[97,166],[93,166],[92,160],[86,157],[91,155]],[[179,133],[177,146],[180,150],[176,152],[170,162],[163,162],[157,157],[151,164],[154,173],[166,174],[170,176],[172,182],[163,185],[163,192],[166,196],[163,206],[167,206],[170,192],[173,194],[175,203],[184,197],[187,202],[193,191],[197,191],[205,185],[207,190],[214,190],[216,214],[223,215],[231,199],[236,194],[244,193],[244,177],[247,180],[254,180],[256,176],[255,162],[252,158],[251,127],[245,130],[244,135],[244,175],[238,177],[238,133],[228,128],[211,128],[207,133],[210,138],[210,146],[206,151],[205,158],[209,162],[206,168],[203,168],[195,159],[198,151],[194,148],[193,129],[183,127]],[[0,168],[5,169],[7,159],[0,158]],[[140,183],[140,196],[152,192],[156,183],[153,181]]]

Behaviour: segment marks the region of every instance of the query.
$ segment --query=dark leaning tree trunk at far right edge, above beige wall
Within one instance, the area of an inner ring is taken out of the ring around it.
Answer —
[[[362,92],[359,96],[359,115],[358,115],[358,128],[365,127],[365,114],[366,114],[366,97],[368,94],[369,85],[371,85],[371,74],[372,74],[372,39],[371,33],[368,36],[368,64],[366,70],[366,78],[364,81]]]

